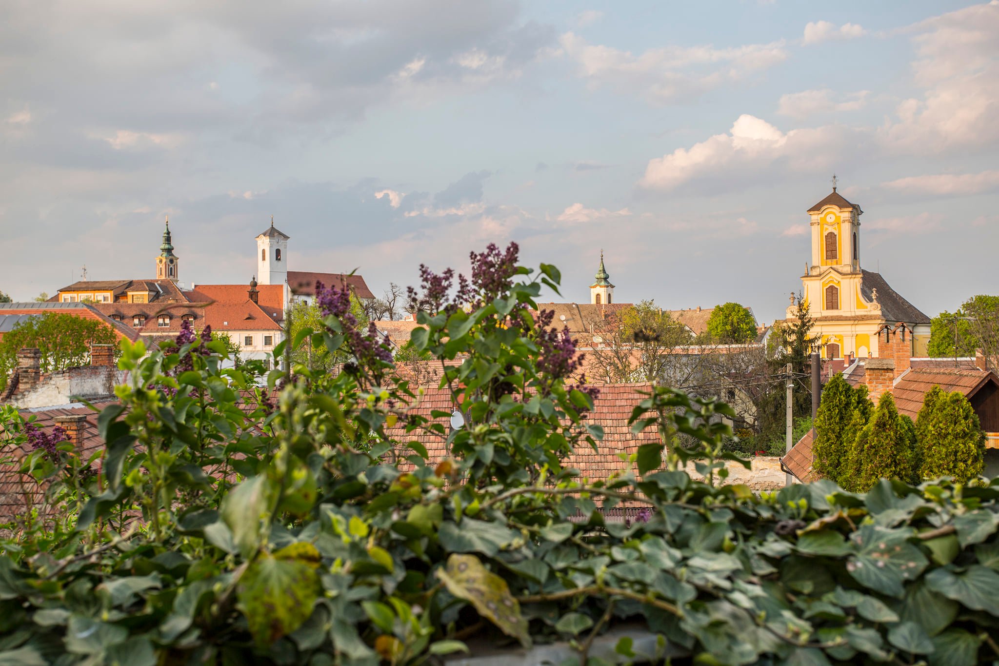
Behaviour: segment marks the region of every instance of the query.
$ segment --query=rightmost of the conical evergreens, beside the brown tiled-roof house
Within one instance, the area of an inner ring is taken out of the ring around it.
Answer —
[[[951,476],[968,481],[985,467],[985,433],[978,414],[959,391],[933,386],[916,417],[916,438],[924,478]]]

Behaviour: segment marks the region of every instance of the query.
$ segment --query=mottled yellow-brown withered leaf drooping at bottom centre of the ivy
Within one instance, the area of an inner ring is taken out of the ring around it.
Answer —
[[[478,557],[453,554],[447,567],[438,569],[438,577],[449,592],[470,602],[504,634],[516,638],[523,647],[530,647],[527,621],[520,616],[520,604],[509,593],[506,581],[483,566]]]

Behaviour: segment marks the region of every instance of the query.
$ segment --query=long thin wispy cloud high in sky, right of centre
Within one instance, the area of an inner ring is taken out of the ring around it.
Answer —
[[[666,46],[638,55],[589,44],[567,32],[558,39],[561,54],[576,64],[591,88],[603,86],[670,104],[724,85],[741,83],[753,72],[787,58],[782,41],[727,48]]]

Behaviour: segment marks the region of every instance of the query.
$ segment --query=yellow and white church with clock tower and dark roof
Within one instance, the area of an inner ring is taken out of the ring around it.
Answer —
[[[911,355],[926,355],[930,318],[903,299],[878,273],[860,268],[860,216],[863,211],[836,192],[808,210],[811,264],[801,276],[802,296],[815,319],[812,334],[822,341],[823,358],[844,354],[878,356],[877,332],[885,324],[905,324]],[[794,296],[787,309],[794,319]]]

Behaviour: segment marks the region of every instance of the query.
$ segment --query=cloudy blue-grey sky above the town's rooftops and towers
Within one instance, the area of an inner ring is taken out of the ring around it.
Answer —
[[[863,268],[999,294],[999,0],[11,0],[0,291],[289,268],[468,271],[519,244],[588,302],[783,317],[839,179]]]

